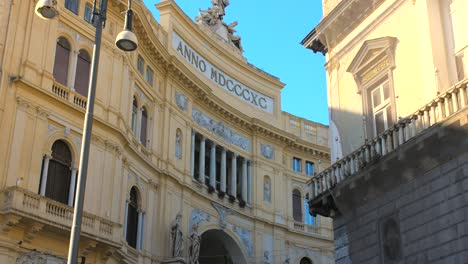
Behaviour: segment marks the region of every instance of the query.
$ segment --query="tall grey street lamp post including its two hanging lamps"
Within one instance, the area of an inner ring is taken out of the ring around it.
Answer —
[[[35,7],[36,14],[43,19],[52,19],[57,16],[56,0],[39,0]],[[68,264],[76,264],[80,242],[81,222],[83,216],[83,203],[86,188],[86,176],[88,172],[89,147],[91,131],[93,127],[94,99],[96,93],[96,80],[98,75],[99,54],[101,51],[102,29],[106,21],[107,0],[101,0],[99,11],[96,11],[96,0],[93,3],[93,22],[96,19],[96,34],[94,38],[94,52],[91,61],[91,76],[88,87],[88,101],[86,104],[85,122],[83,126],[83,138],[81,141],[80,165],[75,194],[75,209],[73,212],[73,224],[68,248]],[[125,15],[124,30],[117,35],[116,46],[123,51],[134,51],[138,46],[138,40],[132,30],[131,0],[128,1],[128,9]],[[93,23],[94,24],[94,23]]]

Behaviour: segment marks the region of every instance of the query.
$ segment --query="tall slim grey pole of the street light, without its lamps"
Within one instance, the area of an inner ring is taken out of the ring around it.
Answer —
[[[68,248],[68,264],[76,264],[78,258],[78,248],[80,243],[81,222],[83,220],[83,203],[86,189],[86,177],[88,174],[89,147],[93,128],[94,99],[96,94],[96,81],[99,68],[99,54],[101,53],[102,28],[106,21],[107,0],[101,0],[99,12],[94,12],[96,1],[93,7],[93,16],[96,19],[96,34],[94,39],[94,52],[91,61],[91,76],[88,87],[88,101],[86,103],[85,122],[83,126],[83,138],[81,141],[80,166],[75,194],[75,210],[73,212],[73,224],[70,233],[70,245]]]

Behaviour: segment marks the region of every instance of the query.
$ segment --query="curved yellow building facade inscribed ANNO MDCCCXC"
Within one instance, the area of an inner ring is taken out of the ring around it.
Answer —
[[[34,4],[0,1],[0,263],[64,263],[72,222],[92,2],[58,1],[50,21]],[[79,261],[189,263],[195,234],[199,263],[332,263],[331,221],[304,210],[328,127],[281,111],[284,84],[232,27],[157,8],[159,23],[133,3],[124,53],[126,5],[108,5]]]

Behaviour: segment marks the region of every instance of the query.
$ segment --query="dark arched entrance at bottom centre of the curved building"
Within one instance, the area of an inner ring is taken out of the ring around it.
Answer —
[[[200,264],[247,264],[236,241],[223,230],[208,230],[201,236]]]

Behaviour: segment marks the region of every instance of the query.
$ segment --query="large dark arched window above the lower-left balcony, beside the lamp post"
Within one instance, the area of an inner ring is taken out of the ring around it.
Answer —
[[[67,144],[57,140],[52,145],[52,159],[49,161],[45,196],[67,204],[71,181],[72,155]]]

